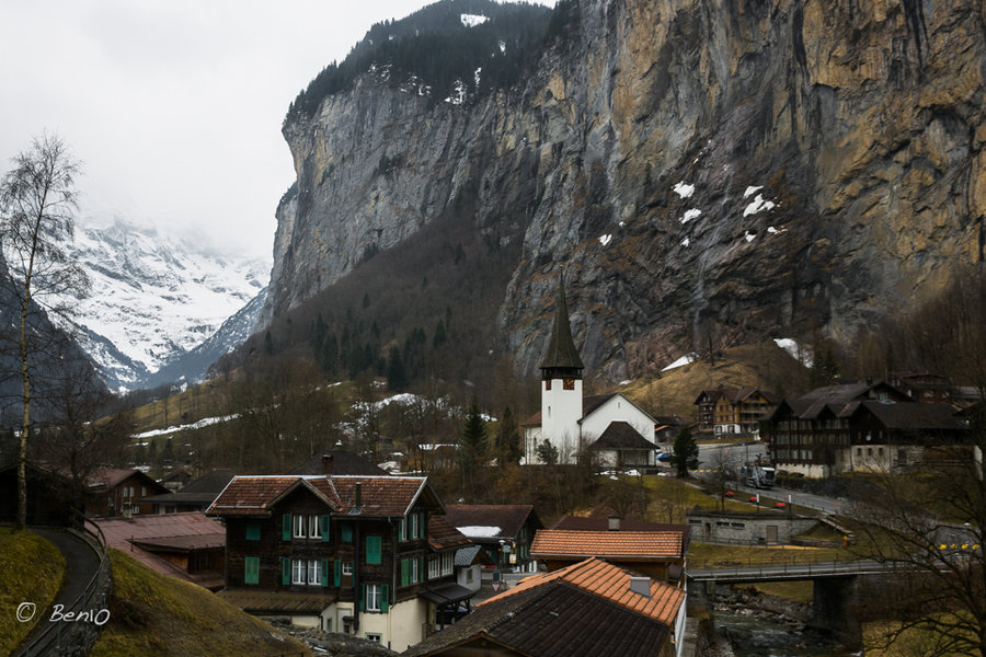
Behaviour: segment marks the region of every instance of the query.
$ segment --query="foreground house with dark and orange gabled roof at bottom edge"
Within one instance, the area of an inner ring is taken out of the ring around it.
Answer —
[[[528,577],[405,657],[675,657],[685,591],[598,558]]]

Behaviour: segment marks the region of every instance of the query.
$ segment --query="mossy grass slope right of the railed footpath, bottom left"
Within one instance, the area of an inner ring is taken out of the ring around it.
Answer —
[[[116,550],[111,557],[111,618],[90,657],[310,654],[202,587],[165,577]]]

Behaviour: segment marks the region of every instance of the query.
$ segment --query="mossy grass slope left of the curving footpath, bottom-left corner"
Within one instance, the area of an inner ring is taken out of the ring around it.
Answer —
[[[30,564],[34,567],[25,567]],[[34,602],[38,610],[47,609],[61,587],[65,557],[48,541],[28,531],[0,533],[0,655],[7,655],[24,639],[37,624],[16,620],[21,602]]]

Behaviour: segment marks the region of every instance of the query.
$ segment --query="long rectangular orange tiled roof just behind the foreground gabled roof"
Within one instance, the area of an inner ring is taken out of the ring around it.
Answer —
[[[635,561],[663,561],[684,556],[684,531],[571,531],[539,529],[530,545],[531,556],[599,556]]]

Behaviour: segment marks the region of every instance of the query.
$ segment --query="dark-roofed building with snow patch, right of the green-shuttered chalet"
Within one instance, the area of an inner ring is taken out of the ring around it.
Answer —
[[[534,573],[530,555],[535,532],[544,525],[529,504],[451,504],[449,525],[483,548],[489,562],[503,570]]]

